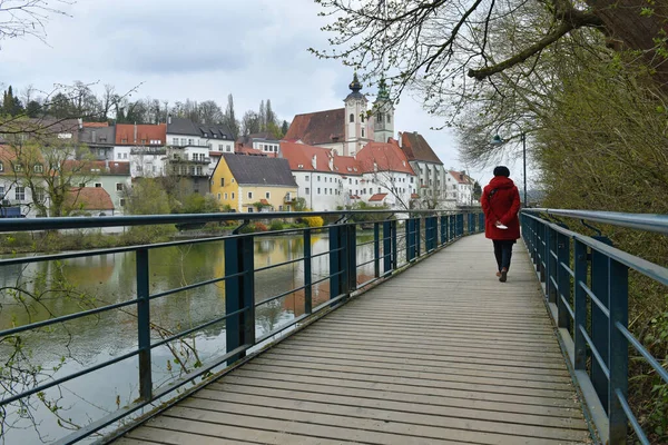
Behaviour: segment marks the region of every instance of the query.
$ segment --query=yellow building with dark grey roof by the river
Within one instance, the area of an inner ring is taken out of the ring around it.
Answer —
[[[297,184],[286,159],[225,154],[212,176],[212,194],[234,211],[291,211]]]

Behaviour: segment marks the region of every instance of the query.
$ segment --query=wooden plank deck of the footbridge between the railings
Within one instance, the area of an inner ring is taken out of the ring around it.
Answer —
[[[466,237],[117,445],[570,444],[587,424],[523,246]]]

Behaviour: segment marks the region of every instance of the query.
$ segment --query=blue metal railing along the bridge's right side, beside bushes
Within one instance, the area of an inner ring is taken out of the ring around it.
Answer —
[[[629,346],[665,383],[668,372],[628,330],[628,276],[633,269],[667,286],[668,269],[612,247],[605,237],[551,222],[550,216],[659,234],[668,234],[668,216],[557,209],[521,215],[522,237],[601,441],[626,444],[630,424],[639,442],[649,444],[628,403]]]

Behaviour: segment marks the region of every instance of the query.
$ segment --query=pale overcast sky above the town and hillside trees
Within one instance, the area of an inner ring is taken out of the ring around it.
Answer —
[[[3,88],[50,90],[81,80],[122,92],[141,83],[134,98],[213,99],[222,107],[232,92],[237,116],[268,98],[288,121],[341,108],[350,92],[350,68],[306,50],[326,46],[313,0],[78,0],[66,10],[71,17],[47,24],[48,44],[2,42]],[[373,88],[363,92],[375,97]],[[441,123],[410,95],[396,107],[395,131],[422,134],[445,167],[470,170],[458,160],[453,135],[430,129]],[[472,176],[483,184],[491,178],[487,171]]]

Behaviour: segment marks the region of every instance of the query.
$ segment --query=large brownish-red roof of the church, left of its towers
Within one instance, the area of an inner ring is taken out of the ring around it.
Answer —
[[[297,115],[284,140],[301,139],[307,145],[331,144],[333,138],[343,141],[345,134],[345,108]]]

